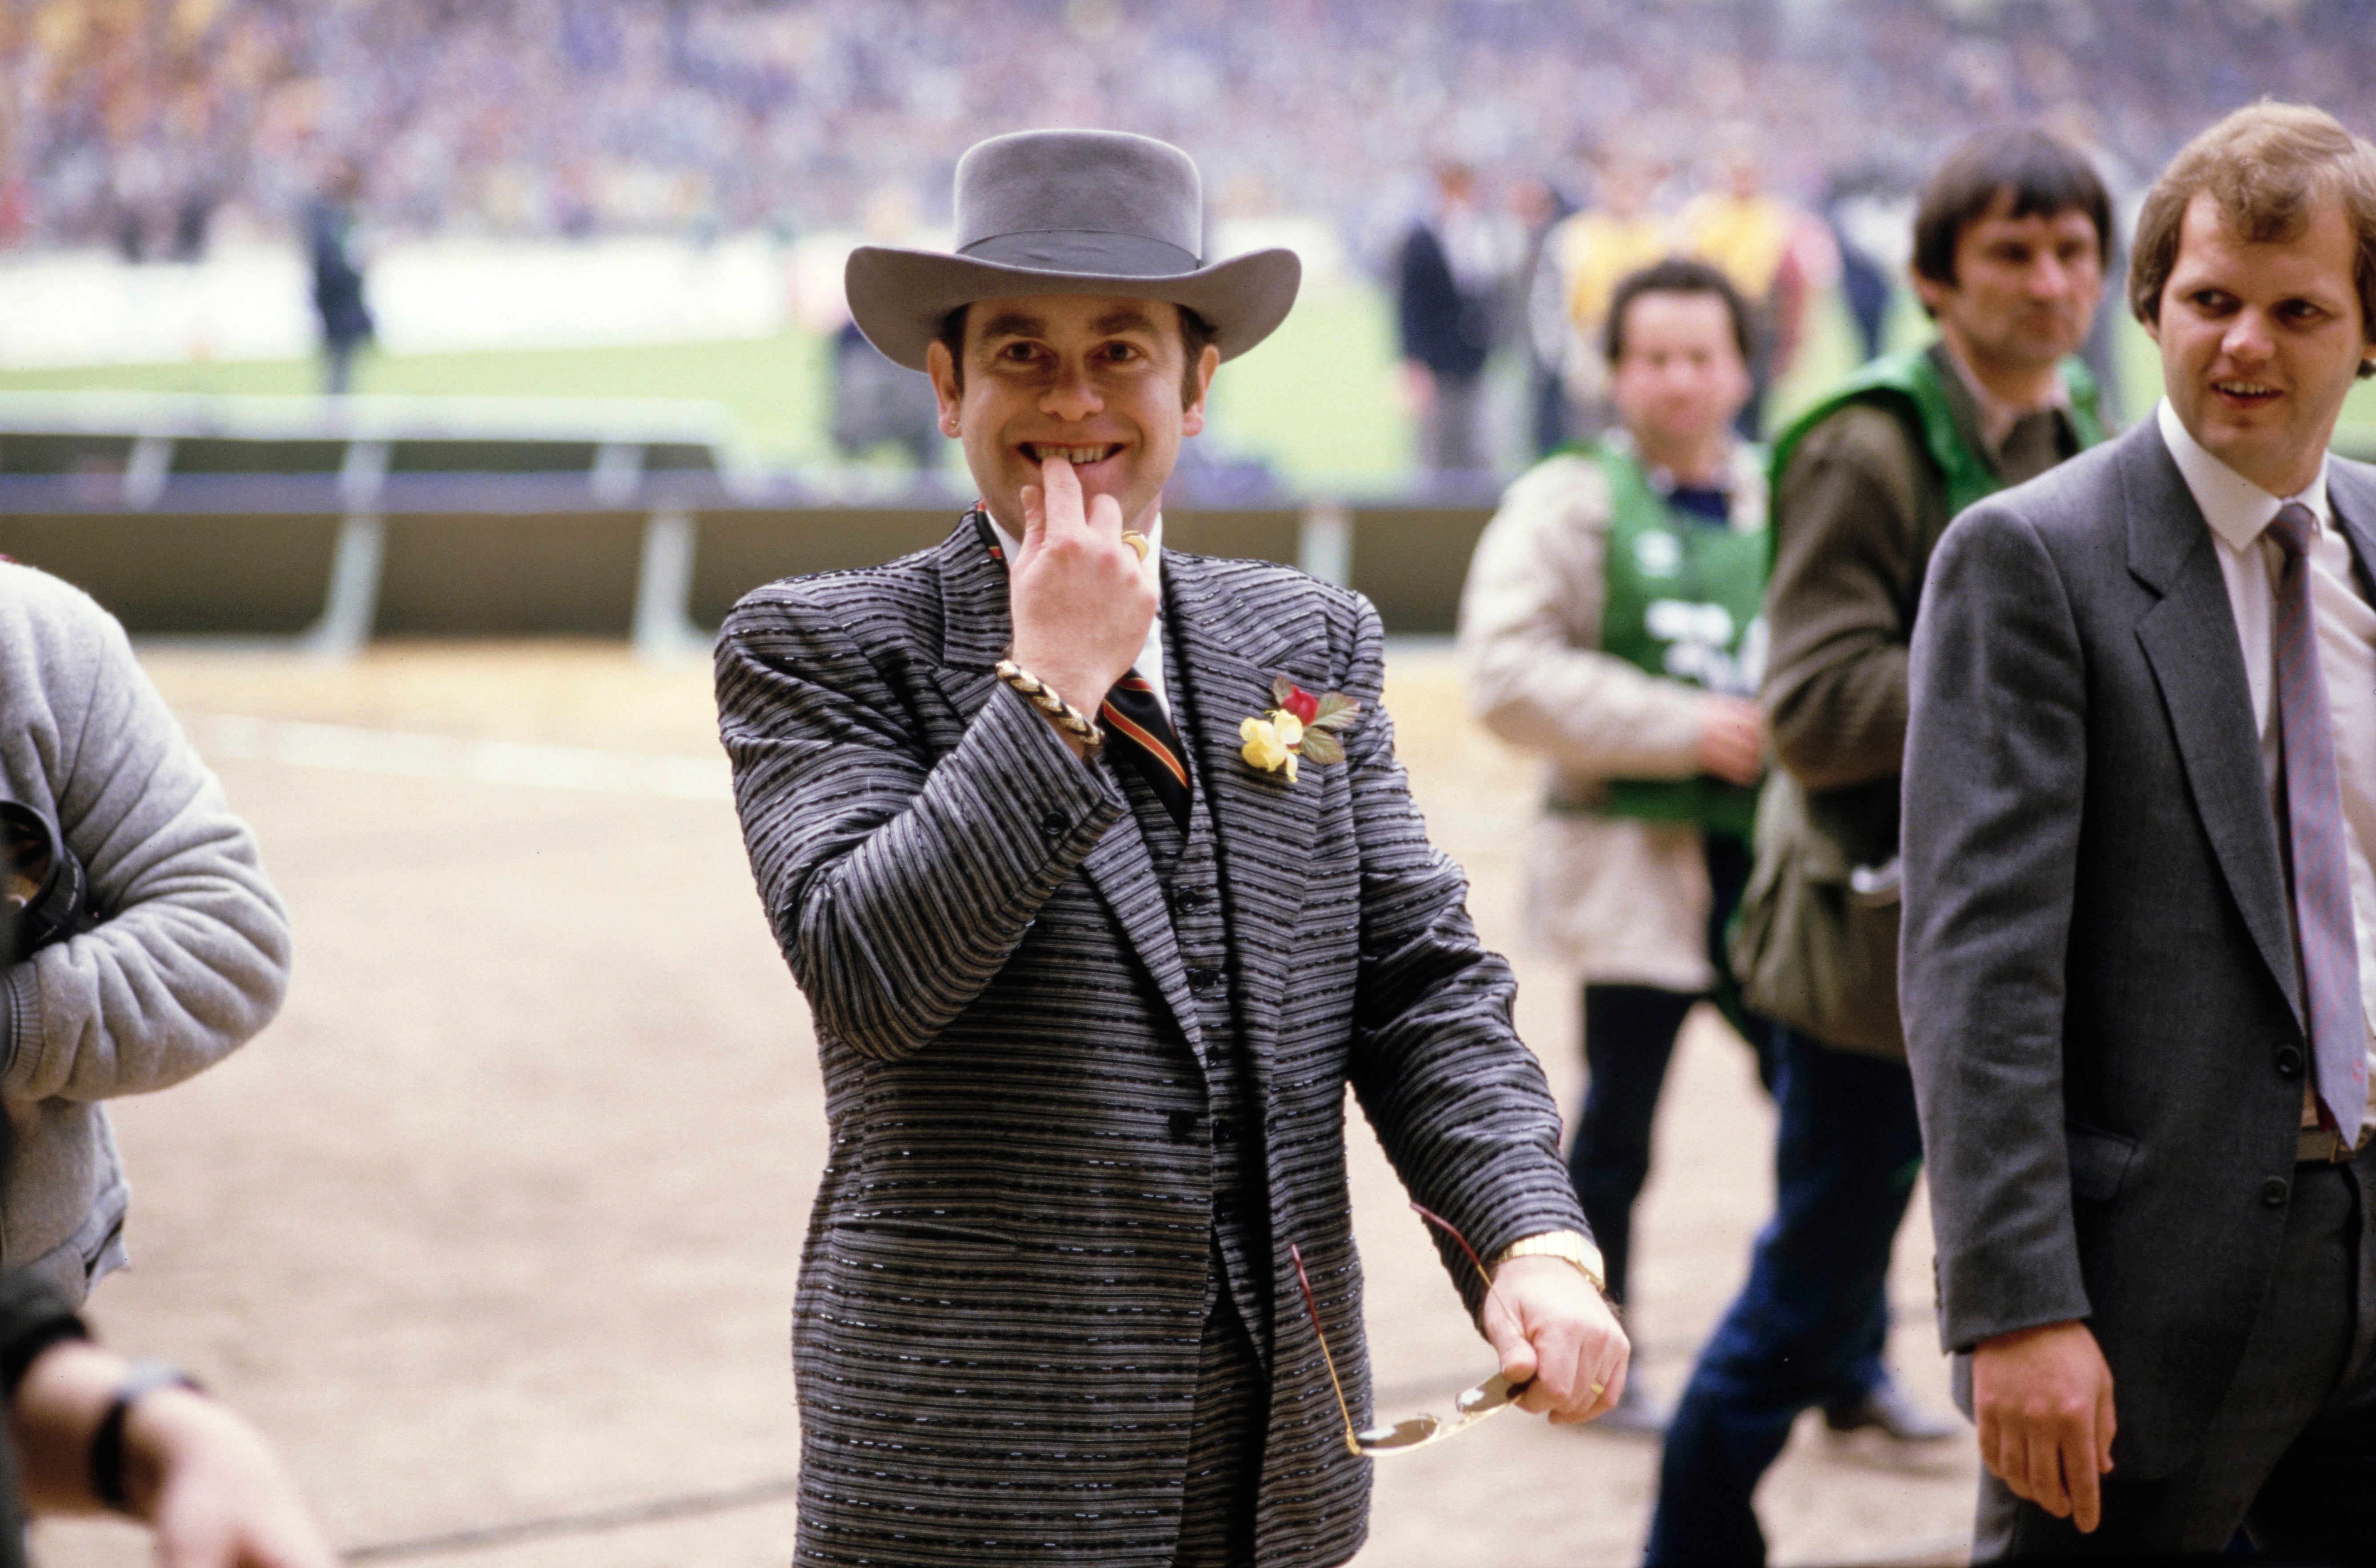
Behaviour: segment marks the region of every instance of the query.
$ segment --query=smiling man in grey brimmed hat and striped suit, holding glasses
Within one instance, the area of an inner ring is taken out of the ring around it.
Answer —
[[[1511,972],[1395,763],[1376,611],[1162,546],[1214,366],[1297,278],[1207,266],[1195,164],[1100,131],[967,152],[955,254],[851,257],[981,501],[753,592],[718,644],[832,1121],[801,1563],[1342,1563],[1366,1456],[1623,1390]],[[1371,1425],[1347,1083],[1499,1359],[1445,1421]]]

